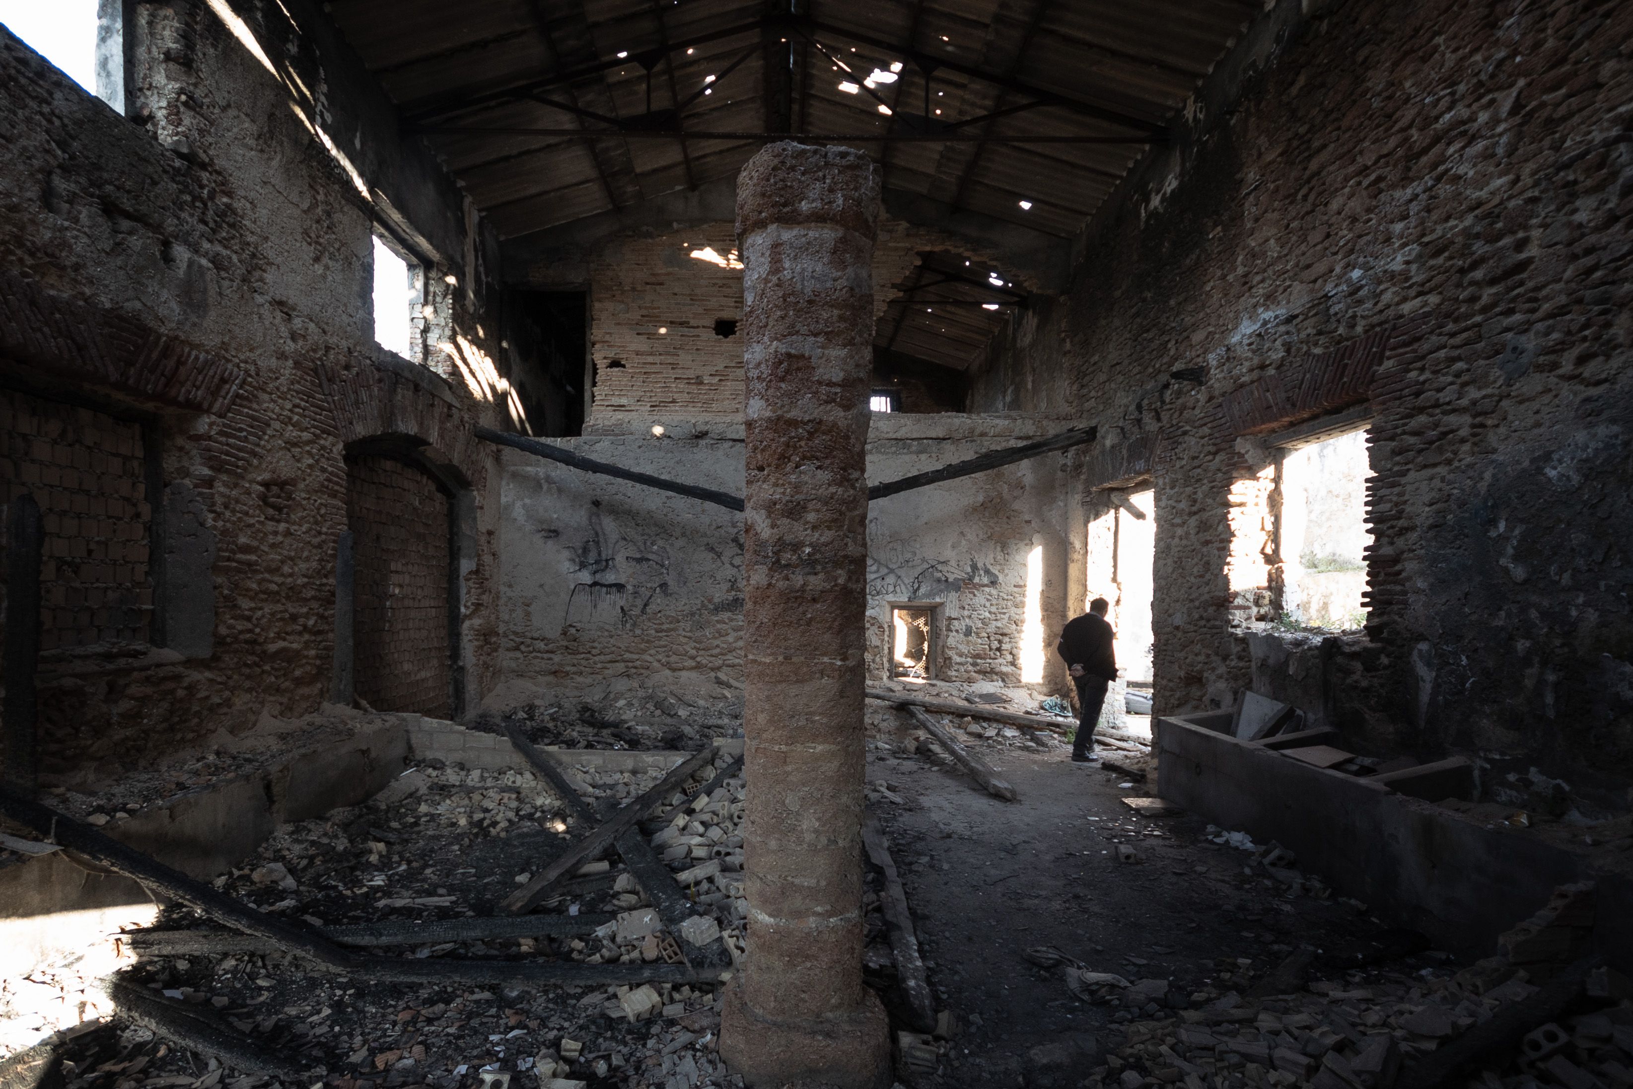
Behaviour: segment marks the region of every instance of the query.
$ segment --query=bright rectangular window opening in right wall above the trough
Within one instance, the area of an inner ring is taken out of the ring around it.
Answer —
[[[1282,447],[1277,518],[1280,616],[1354,630],[1367,620],[1367,431]]]

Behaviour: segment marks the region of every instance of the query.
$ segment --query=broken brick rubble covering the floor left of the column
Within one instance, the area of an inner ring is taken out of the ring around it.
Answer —
[[[730,764],[730,756],[717,754],[714,767],[705,762],[684,790],[665,798],[642,825],[692,905],[678,932],[666,931],[627,869],[603,859],[558,882],[544,901],[547,914],[596,916],[576,936],[421,942],[374,952],[421,960],[666,967],[681,963],[683,950],[691,953],[723,939],[732,960],[738,960],[746,916],[741,772],[709,792],[699,790],[701,782],[719,777]],[[603,802],[603,815],[666,774],[665,769],[596,771],[590,764],[570,764],[567,772],[581,784],[581,797]],[[429,761],[361,807],[279,829],[256,857],[217,878],[216,887],[271,914],[322,927],[487,918],[496,914],[496,903],[526,882],[531,870],[588,831],[575,828],[576,823],[568,807],[527,771],[492,772]],[[201,922],[189,909],[171,908],[155,929]],[[196,1006],[263,1051],[310,1071],[299,1079],[300,1089],[736,1084],[715,1056],[719,983],[730,970],[710,970],[705,981],[689,985],[508,989],[379,983],[273,950],[144,955],[132,965],[127,939],[113,947],[126,967],[121,976]],[[222,1069],[214,1058],[155,1038],[124,1017],[108,1020],[113,1004],[96,981],[78,976],[29,981],[26,996],[21,985],[7,986],[13,1002],[23,998],[33,1006],[85,1002],[69,1011],[78,1014],[69,1016],[69,1022],[90,1020],[49,1042],[69,1089],[279,1084],[276,1078]],[[34,993],[44,989],[52,991],[49,1001]],[[57,1024],[34,1017],[26,1027]],[[0,1058],[36,1040],[39,1032],[10,1033],[11,1047]],[[283,1079],[283,1084],[296,1082]]]

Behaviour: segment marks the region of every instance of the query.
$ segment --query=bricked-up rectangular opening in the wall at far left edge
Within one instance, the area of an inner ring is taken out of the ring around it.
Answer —
[[[46,532],[42,653],[147,642],[144,472],[140,424],[0,389],[0,503],[26,491]]]

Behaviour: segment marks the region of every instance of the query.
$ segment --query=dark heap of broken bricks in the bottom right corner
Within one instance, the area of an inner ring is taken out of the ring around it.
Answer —
[[[1349,971],[1295,986],[1318,955],[1329,965],[1344,960],[1337,950],[1306,949],[1244,993],[1181,994],[1166,980],[1096,976],[1097,996],[1120,991],[1122,1004],[1143,1017],[1083,1084],[1625,1089],[1633,1086],[1633,981],[1584,960],[1592,926],[1594,885],[1566,885],[1502,936],[1499,957],[1455,975],[1434,967]],[[1029,958],[1037,963],[1042,952]],[[1479,1027],[1488,1032],[1476,1035]],[[1434,1065],[1448,1053],[1457,1060],[1447,1068]]]

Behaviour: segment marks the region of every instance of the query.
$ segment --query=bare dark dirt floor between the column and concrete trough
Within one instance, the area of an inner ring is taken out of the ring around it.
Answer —
[[[1150,792],[1120,771],[1073,764],[1065,745],[978,751],[1019,802],[981,792],[937,759],[877,751],[869,761],[869,782],[901,798],[874,808],[913,905],[931,985],[959,1024],[939,1069],[918,1084],[1012,1089],[1022,1076],[1040,1084],[1029,1061],[1040,1045],[1089,1033],[1104,1053],[1125,1040],[1127,1022],[1174,1019],[1176,1006],[1244,991],[1298,945],[1334,958],[1380,949],[1368,939],[1383,927],[1360,905],[1323,896],[1319,885],[1288,895],[1290,885],[1246,865],[1254,856],[1212,842],[1195,816],[1133,815],[1124,798]],[[1137,860],[1120,862],[1119,847],[1132,847]],[[1063,968],[1027,960],[1026,950],[1050,945],[1135,985],[1168,980],[1169,996],[1143,1011],[1084,1002]],[[1445,962],[1426,950],[1386,967],[1396,976],[1445,976]],[[1063,1084],[1101,1065],[1075,1063]]]

